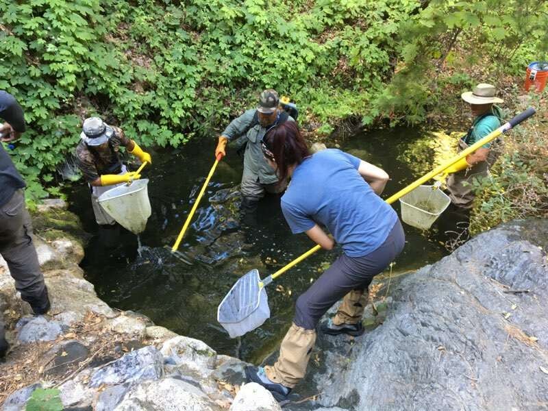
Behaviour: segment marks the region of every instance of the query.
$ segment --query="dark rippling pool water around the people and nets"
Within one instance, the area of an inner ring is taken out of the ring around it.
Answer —
[[[390,174],[384,193],[387,198],[419,177],[397,160],[404,147],[419,136],[418,129],[379,130],[347,138],[340,148]],[[173,258],[164,247],[175,242],[212,166],[213,151],[213,141],[201,140],[151,153],[153,165],[145,169],[143,177],[150,179],[152,216],[140,235],[140,253],[136,236],[127,232],[115,238],[110,248],[104,247],[114,233],[98,232],[88,188],[83,183],[75,185],[69,192],[71,210],[88,232],[97,233],[86,248],[82,267],[99,297],[110,306],[142,312],[155,324],[203,340],[219,353],[238,353],[244,360],[257,361],[277,347],[290,325],[295,299],[340,250],[318,251],[279,277],[267,289],[271,319],[243,336],[241,345],[230,339],[216,322],[216,308],[238,277],[252,268],[265,277],[314,244],[305,234],[290,233],[277,197],[262,201],[256,229],[240,227],[234,188],[240,182],[242,162],[229,150],[179,247],[192,265]],[[227,196],[234,198],[226,200]],[[394,207],[399,212],[399,203]],[[446,254],[437,240],[429,238],[432,234],[408,225],[404,228],[406,248],[396,261],[395,272],[419,268]]]

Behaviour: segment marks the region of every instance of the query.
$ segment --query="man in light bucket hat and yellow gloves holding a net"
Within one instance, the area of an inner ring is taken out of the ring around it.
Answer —
[[[80,142],[76,147],[76,164],[88,182],[95,221],[102,229],[117,227],[116,221],[101,208],[97,199],[114,186],[140,178],[134,171],[127,171],[120,158],[120,146],[135,155],[141,162],[152,163],[149,153],[127,138],[122,129],[110,126],[90,117],[84,121]]]

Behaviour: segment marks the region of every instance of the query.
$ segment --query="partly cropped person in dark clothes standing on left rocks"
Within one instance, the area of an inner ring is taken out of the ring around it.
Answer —
[[[10,93],[0,90],[0,140],[12,142],[25,132],[23,109]],[[34,314],[50,308],[47,286],[32,242],[32,223],[25,208],[25,182],[0,143],[0,256],[8,263],[15,288]],[[0,358],[8,351],[0,319]]]

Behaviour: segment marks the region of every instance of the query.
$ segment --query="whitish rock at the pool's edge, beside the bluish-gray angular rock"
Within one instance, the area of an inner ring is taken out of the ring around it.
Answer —
[[[164,357],[169,357],[175,365],[185,366],[208,375],[214,369],[217,353],[203,341],[177,336],[165,341],[160,349]]]

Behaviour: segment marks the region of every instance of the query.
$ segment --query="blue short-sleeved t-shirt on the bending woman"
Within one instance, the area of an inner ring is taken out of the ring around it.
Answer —
[[[398,216],[358,173],[360,159],[337,149],[319,151],[293,172],[282,211],[293,234],[325,225],[349,257],[375,251]]]

